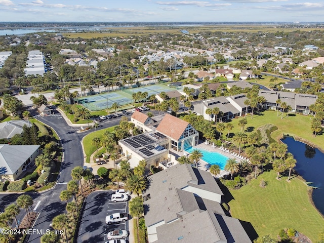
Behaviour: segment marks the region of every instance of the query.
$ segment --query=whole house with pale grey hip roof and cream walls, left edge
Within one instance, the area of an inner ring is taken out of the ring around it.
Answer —
[[[39,154],[39,145],[0,145],[0,180],[15,181]]]

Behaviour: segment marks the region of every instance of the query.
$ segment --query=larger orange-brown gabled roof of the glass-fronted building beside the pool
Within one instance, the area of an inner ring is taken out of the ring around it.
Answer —
[[[166,114],[161,120],[160,124],[157,126],[156,131],[178,141],[188,125],[189,123],[187,121],[173,115]]]

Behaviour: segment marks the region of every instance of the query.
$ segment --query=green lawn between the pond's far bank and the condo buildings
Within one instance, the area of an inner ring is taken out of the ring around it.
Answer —
[[[260,115],[251,115],[246,116],[248,120],[248,124],[245,126],[245,130],[247,131],[249,128],[255,131],[257,128],[261,127],[264,124],[273,124],[278,127],[278,130],[271,133],[271,137],[275,140],[282,138],[282,134],[290,134],[294,135],[295,138],[299,138],[304,142],[315,145],[318,148],[324,150],[324,136],[318,135],[316,137],[313,136],[311,132],[311,119],[312,116],[300,115],[300,114],[291,114],[286,117],[286,113],[281,119],[281,113],[279,112],[279,116],[277,116],[276,111],[267,110],[262,112]],[[238,120],[242,119],[232,119],[231,123],[234,125],[234,129],[231,130],[231,133],[237,133],[240,131],[240,127],[238,126]],[[223,138],[226,138],[227,130],[225,129]],[[231,139],[229,139],[231,140]]]

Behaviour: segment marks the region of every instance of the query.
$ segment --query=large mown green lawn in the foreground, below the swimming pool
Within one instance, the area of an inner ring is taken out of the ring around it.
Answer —
[[[239,190],[231,190],[231,215],[250,222],[258,235],[271,234],[276,238],[280,229],[294,228],[315,242],[324,228],[324,218],[316,211],[308,197],[309,187],[298,179],[291,182],[275,179],[274,171],[265,172]],[[268,185],[259,186],[264,179]]]

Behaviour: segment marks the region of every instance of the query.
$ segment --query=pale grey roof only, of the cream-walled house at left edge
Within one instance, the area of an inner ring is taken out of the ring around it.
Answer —
[[[39,145],[0,145],[2,175],[13,175],[39,148]]]

